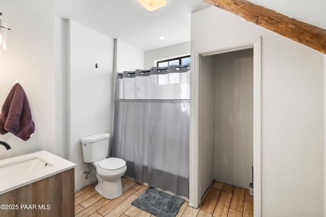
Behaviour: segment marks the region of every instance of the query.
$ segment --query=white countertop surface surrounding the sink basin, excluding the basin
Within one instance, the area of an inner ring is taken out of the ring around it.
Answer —
[[[1,170],[2,169],[5,170],[6,166],[13,165],[16,162],[22,162],[26,159],[33,159],[33,158],[38,158],[51,166],[46,167],[45,169],[39,171],[29,172],[29,173],[19,173],[18,171],[17,173],[14,173],[14,171],[11,171],[11,174],[14,175],[1,174]],[[1,160],[0,161],[0,194],[4,194],[14,189],[18,189],[24,185],[61,173],[63,171],[74,168],[75,166],[76,164],[67,161],[63,158],[60,158],[59,156],[56,156],[55,154],[52,154],[45,150]]]

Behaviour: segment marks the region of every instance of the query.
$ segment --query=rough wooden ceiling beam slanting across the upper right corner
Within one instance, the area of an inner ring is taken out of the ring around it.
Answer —
[[[284,37],[326,54],[326,30],[246,0],[203,0]]]

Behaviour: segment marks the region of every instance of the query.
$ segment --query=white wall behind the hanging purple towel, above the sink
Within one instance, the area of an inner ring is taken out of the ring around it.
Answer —
[[[0,106],[19,79],[35,122],[35,137],[28,141],[11,133],[0,135],[0,140],[12,147],[6,150],[1,146],[0,159],[38,150],[64,152],[55,135],[54,4],[51,0],[0,0],[1,19],[12,29],[8,31],[7,51],[0,57]]]

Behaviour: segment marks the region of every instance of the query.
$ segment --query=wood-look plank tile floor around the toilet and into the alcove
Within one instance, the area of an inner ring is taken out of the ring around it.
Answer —
[[[148,187],[127,178],[122,178],[123,194],[116,199],[103,198],[89,185],[75,193],[75,216],[122,216],[145,217],[155,216],[141,210],[131,202],[141,195]],[[250,217],[254,216],[254,198],[248,189],[213,181],[204,194],[200,207],[195,209],[185,201],[177,217]]]

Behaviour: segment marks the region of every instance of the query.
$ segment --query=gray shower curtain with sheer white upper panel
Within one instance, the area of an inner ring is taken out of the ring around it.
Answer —
[[[126,176],[188,197],[189,66],[117,74],[112,156]]]

